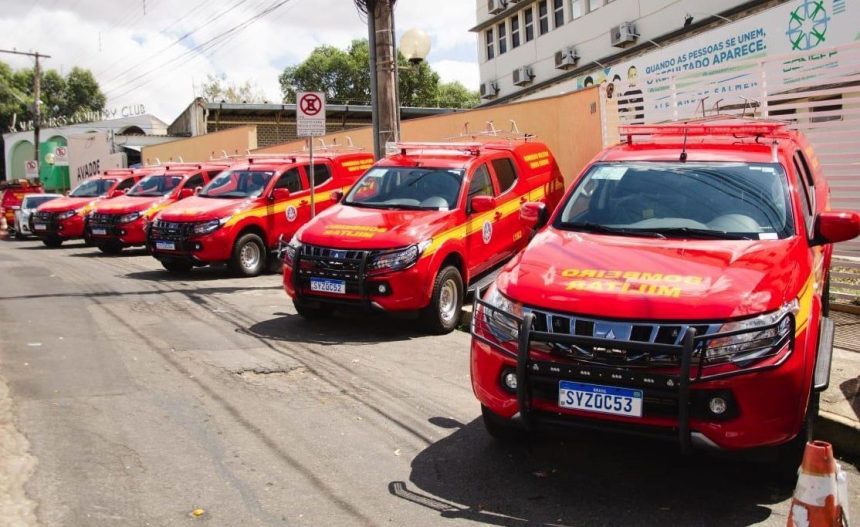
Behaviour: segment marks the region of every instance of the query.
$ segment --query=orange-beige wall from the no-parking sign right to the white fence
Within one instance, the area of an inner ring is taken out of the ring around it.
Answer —
[[[534,134],[538,141],[549,146],[565,180],[570,183],[602,148],[598,98],[597,88],[592,88],[548,99],[411,119],[401,124],[401,137],[404,141],[444,141],[460,135],[466,123],[471,132],[486,129],[487,121],[493,121],[497,129],[509,130],[513,119],[521,132]],[[372,132],[368,127],[329,134],[324,140],[326,144],[335,140],[338,144],[346,144],[347,137],[352,138],[355,146],[373,150]],[[302,149],[302,144],[303,141],[284,143],[255,152],[295,152]]]

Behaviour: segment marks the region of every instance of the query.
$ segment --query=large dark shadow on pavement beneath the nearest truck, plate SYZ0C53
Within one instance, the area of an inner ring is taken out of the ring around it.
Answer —
[[[441,421],[440,421],[441,420]],[[761,463],[680,457],[664,443],[600,434],[502,444],[480,419],[420,452],[389,492],[443,518],[487,525],[749,525],[791,496]]]

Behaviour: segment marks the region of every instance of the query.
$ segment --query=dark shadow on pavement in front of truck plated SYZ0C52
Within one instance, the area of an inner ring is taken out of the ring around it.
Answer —
[[[255,337],[313,344],[367,344],[398,342],[424,336],[408,320],[366,313],[336,314],[329,319],[307,320],[299,315],[275,313],[278,318],[258,322],[246,331]]]

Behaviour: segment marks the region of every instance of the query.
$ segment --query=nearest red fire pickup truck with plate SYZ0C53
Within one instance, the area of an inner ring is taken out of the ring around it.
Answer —
[[[860,214],[830,209],[815,152],[783,123],[621,132],[555,214],[523,205],[548,225],[476,301],[487,430],[779,447],[796,471],[829,380],[831,244],[857,236]]]

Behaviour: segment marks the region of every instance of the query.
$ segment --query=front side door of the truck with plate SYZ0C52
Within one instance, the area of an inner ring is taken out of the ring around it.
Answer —
[[[466,260],[472,276],[488,269],[499,257],[495,254],[493,243],[498,236],[496,213],[475,212],[472,210],[471,201],[475,196],[496,197],[497,188],[487,164],[478,165],[472,172],[469,192],[466,195]]]

